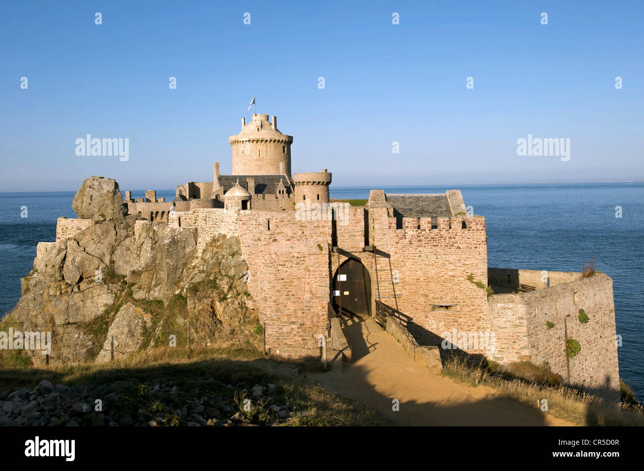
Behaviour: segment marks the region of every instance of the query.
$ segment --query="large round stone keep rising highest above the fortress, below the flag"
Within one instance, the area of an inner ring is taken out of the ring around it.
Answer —
[[[229,137],[232,146],[232,175],[289,175],[292,136],[278,130],[278,119],[269,115],[252,115],[242,130]]]

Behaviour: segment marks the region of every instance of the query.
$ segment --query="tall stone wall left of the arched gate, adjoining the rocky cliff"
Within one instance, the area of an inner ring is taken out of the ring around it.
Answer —
[[[319,355],[316,335],[328,322],[330,221],[298,220],[294,211],[191,209],[171,213],[169,224],[198,228],[198,254],[219,233],[238,236],[267,348]]]

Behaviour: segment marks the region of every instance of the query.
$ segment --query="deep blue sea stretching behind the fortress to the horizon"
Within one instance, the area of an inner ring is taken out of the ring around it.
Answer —
[[[491,267],[579,271],[594,258],[614,282],[620,376],[644,399],[644,183],[377,187],[386,193],[444,193],[460,188],[466,206],[486,216]],[[375,188],[375,187],[372,187]],[[332,198],[367,198],[369,187],[331,187]],[[55,240],[56,219],[75,217],[75,192],[0,193],[0,314],[20,297],[36,244]],[[133,191],[142,198],[144,191]],[[173,199],[173,190],[158,191]],[[26,218],[24,214],[26,206]],[[621,217],[616,217],[621,207]]]

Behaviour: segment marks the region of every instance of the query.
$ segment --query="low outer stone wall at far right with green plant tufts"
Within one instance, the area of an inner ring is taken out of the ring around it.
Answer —
[[[578,320],[583,309],[589,322]],[[547,361],[553,372],[572,385],[603,394],[620,389],[612,280],[595,274],[528,293],[495,294],[489,301],[494,320],[497,360],[502,363]],[[551,329],[546,323],[552,322]],[[505,333],[504,333],[505,332]],[[567,358],[565,343],[574,338],[580,353]]]

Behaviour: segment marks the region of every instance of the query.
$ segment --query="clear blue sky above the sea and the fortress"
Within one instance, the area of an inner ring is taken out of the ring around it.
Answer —
[[[641,0],[1,1],[1,191],[210,181],[253,95],[335,186],[644,179],[643,24]],[[77,157],[88,133],[128,162]],[[518,157],[528,133],[571,159]]]

